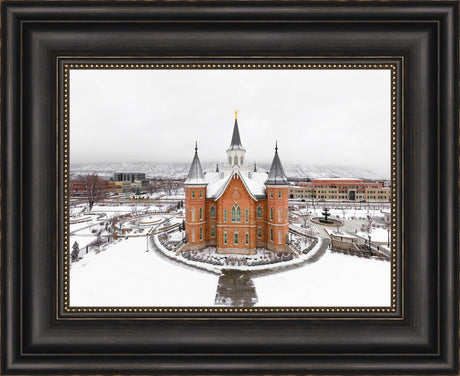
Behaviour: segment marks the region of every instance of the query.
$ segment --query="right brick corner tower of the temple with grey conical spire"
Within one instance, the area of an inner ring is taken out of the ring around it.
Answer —
[[[267,192],[267,248],[271,251],[285,251],[289,236],[288,180],[275,146],[268,178],[265,181]]]

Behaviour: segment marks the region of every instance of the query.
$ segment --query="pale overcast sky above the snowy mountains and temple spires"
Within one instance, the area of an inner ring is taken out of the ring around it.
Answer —
[[[390,70],[71,70],[70,162],[246,159],[390,176]]]

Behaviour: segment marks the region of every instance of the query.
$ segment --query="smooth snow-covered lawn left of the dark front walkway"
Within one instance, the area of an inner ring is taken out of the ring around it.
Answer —
[[[218,276],[171,262],[146,239],[121,240],[89,253],[70,270],[70,306],[212,305]]]

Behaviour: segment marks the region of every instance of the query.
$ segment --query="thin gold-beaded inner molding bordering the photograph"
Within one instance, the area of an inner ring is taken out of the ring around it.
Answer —
[[[60,58],[58,58],[59,60]],[[312,59],[312,58],[308,58]],[[64,192],[63,192],[63,199],[64,199],[64,233],[63,233],[63,244],[64,249],[57,250],[57,270],[63,265],[63,273],[57,273],[58,279],[58,286],[60,288],[57,289],[58,295],[62,294],[63,299],[59,299],[59,296],[56,297],[56,304],[59,305],[60,302],[63,302],[63,312],[70,313],[70,314],[77,314],[87,317],[87,318],[95,318],[92,317],[91,314],[111,314],[111,313],[123,313],[123,314],[133,314],[132,316],[135,317],[136,314],[143,314],[143,319],[155,319],[155,314],[161,313],[161,318],[164,319],[164,314],[171,314],[174,318],[183,318],[183,314],[187,313],[198,313],[198,314],[216,314],[215,318],[219,319],[219,314],[239,314],[244,313],[245,319],[251,317],[251,313],[255,314],[318,314],[318,317],[321,319],[328,318],[328,314],[351,314],[349,318],[354,318],[353,315],[357,313],[361,314],[372,314],[372,319],[378,319],[379,314],[394,314],[398,311],[398,304],[401,305],[404,299],[402,299],[404,294],[404,289],[402,286],[403,278],[402,276],[398,276],[397,270],[404,270],[403,265],[398,265],[398,262],[403,264],[404,262],[404,252],[403,246],[401,244],[401,249],[397,250],[396,244],[398,244],[397,240],[397,228],[396,228],[396,211],[397,211],[397,203],[399,200],[397,192],[399,191],[398,187],[400,182],[397,181],[397,126],[398,122],[400,122],[400,126],[402,128],[402,119],[403,116],[398,116],[397,107],[398,101],[402,101],[403,95],[402,90],[403,87],[399,88],[397,85],[398,82],[398,75],[400,75],[400,82],[403,82],[403,68],[404,64],[401,67],[398,67],[395,63],[386,63],[386,62],[376,62],[376,63],[348,63],[344,62],[341,63],[340,59],[331,63],[315,63],[315,62],[308,62],[308,63],[201,63],[201,62],[181,62],[181,63],[120,63],[119,58],[117,58],[117,62],[111,62],[110,60],[114,60],[113,58],[104,58],[104,62],[81,62],[82,59],[79,59],[78,62],[72,63],[70,58],[65,58],[65,62],[61,65],[63,72],[57,74],[57,88],[58,91],[62,91],[62,95],[57,95],[57,101],[62,101],[63,103],[57,103],[56,108],[62,109],[63,113],[57,114],[58,122],[62,124],[62,139],[63,139],[63,155],[64,155],[64,166],[63,166],[63,181],[64,181]],[[97,58],[97,60],[101,60]],[[378,61],[379,59],[375,59]],[[59,66],[59,64],[58,64]],[[399,69],[398,69],[399,68]],[[70,82],[70,70],[72,69],[90,69],[90,70],[100,70],[100,69],[113,69],[113,70],[124,70],[124,69],[139,69],[139,70],[148,70],[148,69],[185,69],[185,70],[193,70],[193,69],[370,69],[370,70],[390,70],[391,71],[391,124],[389,124],[389,131],[391,132],[390,137],[390,146],[391,146],[391,306],[388,307],[90,307],[90,306],[71,306],[70,305],[70,244],[69,244],[69,218],[70,218],[70,198],[69,198],[69,173],[70,173],[70,162],[69,162],[69,142],[70,142],[70,95],[69,95],[69,88],[71,85]],[[400,70],[400,71],[399,71]],[[401,111],[403,106],[401,106]],[[58,110],[59,111],[59,110]],[[60,119],[60,120],[59,120]],[[58,124],[57,129],[60,126]],[[58,242],[59,244],[60,242]],[[58,247],[59,248],[59,247]],[[397,252],[400,252],[400,259],[398,261]],[[61,262],[62,261],[62,262]],[[62,279],[62,280],[61,280]],[[397,289],[398,283],[401,285],[399,286],[401,291],[401,301],[398,301],[397,298]],[[400,307],[400,312],[403,312],[403,307]],[[59,312],[59,309],[56,310]],[[144,314],[153,314],[153,316],[144,316]],[[176,314],[181,314],[180,317],[176,316]],[[249,314],[249,316],[247,315]],[[377,315],[377,316],[376,316]],[[130,317],[131,315],[129,315]],[[126,316],[125,316],[126,317]],[[287,317],[289,317],[287,315]],[[362,315],[356,318],[362,319]],[[114,318],[115,316],[104,316],[105,319],[107,318]],[[194,316],[196,318],[196,316]],[[214,318],[214,317],[213,317]],[[226,317],[228,318],[228,316]],[[299,318],[296,316],[296,318]],[[309,315],[306,317],[311,319],[312,317]],[[314,318],[314,317],[313,317]],[[332,317],[331,317],[332,318]],[[344,319],[343,315],[337,317],[340,319]],[[345,317],[346,318],[346,317]],[[394,319],[394,317],[384,317],[381,318],[385,319]],[[270,316],[270,319],[274,319],[273,316]],[[398,317],[396,319],[402,319],[402,317]]]

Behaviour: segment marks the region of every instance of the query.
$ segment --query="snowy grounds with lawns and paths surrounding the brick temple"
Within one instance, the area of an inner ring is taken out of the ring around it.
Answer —
[[[360,209],[332,213],[344,220],[344,228],[355,228],[357,233],[369,215]],[[300,210],[297,214],[320,213]],[[372,213],[379,215],[383,216]],[[159,231],[171,228],[168,238],[179,243],[182,232],[177,226],[182,218],[181,212],[168,214],[164,207],[128,205],[99,205],[91,214],[75,214],[70,221],[70,244],[78,243],[79,258],[70,266],[70,306],[391,305],[391,263],[331,251],[329,235],[320,226],[307,226],[319,239],[317,244],[294,235],[294,243],[306,249],[305,254],[299,252],[268,267],[264,258],[274,256],[263,251],[252,259],[217,257],[208,251],[214,265],[194,264],[191,255],[184,257],[159,241]],[[113,219],[121,236],[111,233]],[[297,222],[293,226],[301,229],[301,221]],[[386,231],[376,227],[371,233],[383,239]],[[235,286],[248,296],[235,298]]]

